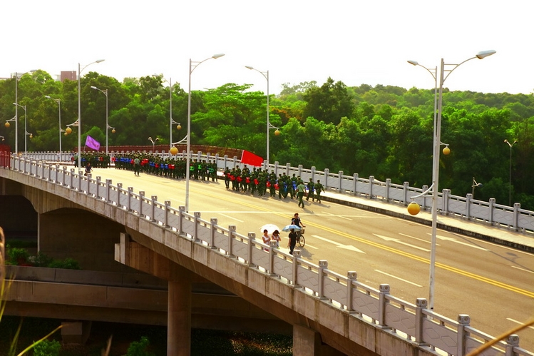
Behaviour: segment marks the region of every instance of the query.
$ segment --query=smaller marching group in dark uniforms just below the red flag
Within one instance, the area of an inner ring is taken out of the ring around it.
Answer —
[[[225,172],[225,186],[226,189],[232,188],[239,192],[250,192],[252,195],[257,193],[258,196],[269,194],[271,197],[278,195],[279,199],[285,199],[289,195],[290,198],[299,199],[299,207],[304,208],[304,195],[306,200],[312,198],[312,202],[317,200],[321,203],[321,193],[324,192],[324,186],[321,180],[314,183],[312,178],[304,184],[296,174],[287,176],[286,173],[280,173],[278,176],[271,171],[262,170],[261,168],[253,168],[252,171],[245,166],[240,168],[226,168]]]

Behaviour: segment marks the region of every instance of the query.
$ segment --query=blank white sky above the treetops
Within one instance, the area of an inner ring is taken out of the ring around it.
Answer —
[[[330,76],[433,88],[428,68],[497,54],[456,69],[445,87],[483,93],[534,91],[529,0],[1,0],[0,77],[43,69],[52,76],[88,66],[122,81],[161,73],[188,90],[189,59],[202,61],[192,89],[282,83]]]

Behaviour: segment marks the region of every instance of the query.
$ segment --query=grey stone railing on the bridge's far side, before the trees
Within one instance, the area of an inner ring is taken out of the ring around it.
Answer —
[[[114,153],[111,154],[120,154]],[[171,157],[170,153],[156,153],[163,158]],[[62,159],[70,161],[67,153],[63,153]],[[175,158],[185,158],[187,153],[185,151],[173,156]],[[55,161],[58,158],[57,152],[31,152],[26,153],[26,158],[36,161]],[[237,157],[228,157],[219,155],[210,155],[210,153],[202,154],[202,152],[190,152],[190,158],[198,161],[215,161],[217,168],[222,171],[226,167],[243,168],[245,165],[240,162]],[[12,166],[12,165],[11,165]],[[12,166],[16,168],[15,166]],[[409,182],[404,184],[391,183],[391,179],[386,179],[385,182],[377,180],[374,176],[369,178],[360,178],[357,173],[352,176],[346,176],[343,171],[338,173],[331,173],[328,168],[324,171],[317,171],[315,167],[303,168],[302,165],[292,167],[291,163],[286,163],[285,166],[278,162],[269,164],[264,162],[263,168],[268,171],[274,171],[279,174],[286,173],[287,176],[299,176],[304,182],[309,181],[310,178],[314,182],[320,180],[324,185],[325,190],[335,190],[339,193],[358,195],[362,198],[380,199],[384,203],[396,203],[401,205],[408,205],[411,201],[415,201],[421,205],[423,210],[431,209],[431,197],[429,195],[421,196],[412,199],[416,195],[423,193],[428,186],[422,188],[415,188],[409,185]],[[514,203],[513,206],[497,204],[494,198],[488,202],[483,200],[476,200],[472,194],[467,194],[465,197],[452,195],[451,190],[443,189],[438,192],[438,213],[441,215],[451,215],[457,218],[476,220],[481,223],[489,225],[498,225],[503,228],[509,228],[520,233],[534,233],[534,211],[525,210],[521,208],[520,203]]]

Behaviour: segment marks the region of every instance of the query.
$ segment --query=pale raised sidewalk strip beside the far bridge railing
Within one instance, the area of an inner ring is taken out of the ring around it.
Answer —
[[[406,206],[396,203],[385,203],[379,199],[360,198],[356,195],[335,193],[332,191],[324,192],[321,195],[322,200],[349,205],[353,208],[369,210],[374,213],[394,216],[411,220],[416,223],[432,225],[432,215],[430,210],[421,210],[417,215],[410,215]],[[466,220],[463,218],[450,217],[438,214],[438,229],[461,233],[473,238],[491,241],[510,248],[523,250],[534,253],[534,236],[525,233],[516,233],[515,231],[493,226],[488,223]]]

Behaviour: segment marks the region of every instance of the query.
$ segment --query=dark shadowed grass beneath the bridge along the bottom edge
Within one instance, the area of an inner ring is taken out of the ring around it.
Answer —
[[[0,332],[0,356],[8,356],[1,350],[9,348],[9,342],[19,327],[20,317],[2,319]],[[24,345],[31,345],[39,335],[46,335],[61,325],[60,320],[26,317],[22,322],[17,350]],[[86,345],[62,345],[60,356],[101,356],[101,350],[106,347],[110,335],[113,335],[109,356],[123,356],[128,351],[131,342],[139,341],[141,337],[148,337],[150,345],[148,351],[155,356],[167,355],[167,327],[129,325],[112,322],[93,322],[91,336]],[[54,333],[49,340],[61,342],[60,332]],[[30,354],[31,355],[31,354]],[[291,335],[271,335],[252,332],[227,332],[217,330],[194,329],[191,332],[191,355],[217,356],[274,356],[292,355]]]

